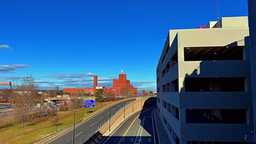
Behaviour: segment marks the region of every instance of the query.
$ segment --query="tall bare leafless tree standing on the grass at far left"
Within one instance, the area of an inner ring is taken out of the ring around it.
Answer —
[[[24,128],[24,122],[31,111],[31,106],[35,103],[38,95],[38,85],[33,76],[27,76],[16,83],[15,87],[15,110],[21,119],[21,128]]]

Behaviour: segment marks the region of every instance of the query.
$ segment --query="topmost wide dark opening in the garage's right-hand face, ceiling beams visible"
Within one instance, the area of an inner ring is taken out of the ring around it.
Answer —
[[[184,47],[184,61],[243,60],[245,46]]]

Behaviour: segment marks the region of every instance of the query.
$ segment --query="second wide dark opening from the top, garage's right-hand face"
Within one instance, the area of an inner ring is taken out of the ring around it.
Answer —
[[[185,78],[185,92],[245,92],[245,77]]]

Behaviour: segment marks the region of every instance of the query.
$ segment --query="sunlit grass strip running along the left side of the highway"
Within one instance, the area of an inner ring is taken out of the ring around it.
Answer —
[[[108,105],[109,102],[103,103],[102,106]],[[96,103],[95,111],[101,109],[101,104]],[[92,108],[87,108],[87,116],[91,114]],[[59,124],[57,129],[63,129],[73,124],[74,111],[59,112]],[[75,114],[75,120],[85,117],[85,109],[81,108]],[[0,143],[29,143],[38,140],[44,136],[52,134],[55,132],[55,126],[49,120],[43,122],[26,122],[25,128],[21,129],[21,124],[14,125],[13,127],[8,127],[5,129],[0,129]]]

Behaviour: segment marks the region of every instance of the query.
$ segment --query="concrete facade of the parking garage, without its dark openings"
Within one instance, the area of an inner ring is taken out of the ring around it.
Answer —
[[[245,141],[245,135],[253,130],[253,103],[251,86],[250,57],[248,47],[245,48],[244,61],[184,61],[184,47],[208,46],[245,46],[245,37],[249,35],[247,17],[235,17],[236,21],[221,19],[220,27],[208,29],[177,29],[170,30],[166,43],[170,43],[170,50],[166,53],[166,45],[159,59],[159,77],[157,86],[160,89],[158,98],[160,103],[160,118],[162,115],[171,124],[171,127],[181,139],[205,141]],[[244,21],[245,20],[245,21]],[[237,22],[234,24],[234,22]],[[213,25],[213,23],[212,23]],[[162,77],[162,70],[170,61],[174,53],[178,53],[178,63]],[[164,58],[162,62],[162,58]],[[188,93],[184,92],[185,77],[246,77],[246,92],[210,92]],[[162,92],[162,85],[178,79],[179,92]],[[179,108],[179,120],[162,107],[162,100]],[[248,124],[187,124],[185,123],[185,109],[248,109]],[[234,127],[232,127],[234,126]],[[233,129],[232,129],[233,128]],[[167,129],[167,128],[166,128]],[[219,133],[219,131],[223,131]],[[168,136],[171,137],[170,132]],[[233,134],[233,135],[232,135]],[[203,136],[201,136],[203,135]],[[216,136],[214,136],[216,135]],[[200,136],[200,137],[199,137]],[[172,139],[172,138],[171,138]]]

